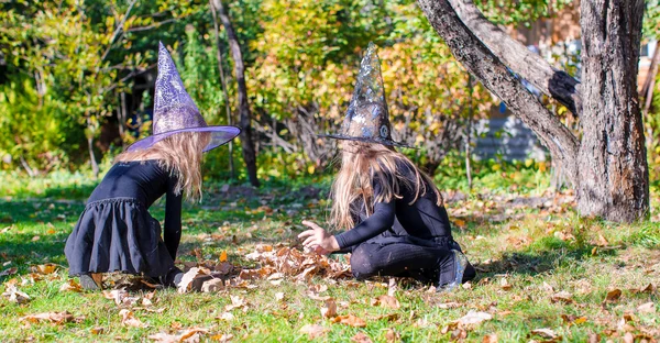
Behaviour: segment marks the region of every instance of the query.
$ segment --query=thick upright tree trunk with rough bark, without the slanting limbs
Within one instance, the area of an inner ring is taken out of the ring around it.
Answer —
[[[630,222],[649,210],[649,174],[637,93],[644,0],[580,4],[583,137],[578,209]]]

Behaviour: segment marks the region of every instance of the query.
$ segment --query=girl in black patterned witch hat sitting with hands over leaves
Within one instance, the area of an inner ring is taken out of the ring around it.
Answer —
[[[375,45],[370,44],[342,133],[341,169],[332,186],[331,235],[314,222],[298,235],[319,253],[351,252],[356,278],[409,276],[451,290],[475,270],[451,235],[432,180],[395,146]]]

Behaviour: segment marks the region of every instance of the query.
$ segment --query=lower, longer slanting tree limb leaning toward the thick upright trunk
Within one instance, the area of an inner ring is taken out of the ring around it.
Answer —
[[[418,3],[454,57],[537,134],[550,151],[553,162],[560,163],[575,184],[579,143],[571,131],[476,38],[448,0],[418,0]]]

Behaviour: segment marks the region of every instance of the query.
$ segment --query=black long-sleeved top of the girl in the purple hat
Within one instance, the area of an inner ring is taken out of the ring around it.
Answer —
[[[166,196],[165,228],[163,241],[176,258],[182,236],[182,195],[175,195],[177,178],[163,169],[156,159],[119,162],[114,164],[103,180],[91,192],[88,202],[131,198],[150,208],[154,201]]]

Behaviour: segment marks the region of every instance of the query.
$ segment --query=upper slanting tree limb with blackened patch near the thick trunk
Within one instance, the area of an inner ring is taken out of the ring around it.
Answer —
[[[576,79],[553,68],[541,56],[512,38],[488,21],[471,0],[449,0],[449,3],[465,26],[509,69],[580,117],[582,96]]]

